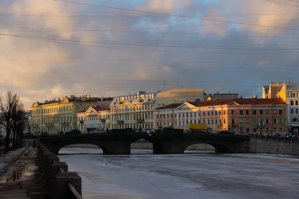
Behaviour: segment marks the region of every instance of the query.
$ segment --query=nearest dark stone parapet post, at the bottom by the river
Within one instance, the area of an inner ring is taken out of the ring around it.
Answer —
[[[82,179],[76,172],[59,172],[55,175],[55,194],[51,199],[74,198],[69,191],[68,182],[71,183],[77,192],[82,196]]]

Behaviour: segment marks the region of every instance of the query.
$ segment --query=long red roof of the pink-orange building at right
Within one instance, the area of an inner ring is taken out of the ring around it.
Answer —
[[[213,100],[205,101],[199,104],[199,107],[208,107],[208,106],[219,106],[226,105],[231,102],[238,104],[285,104],[282,98],[236,98],[236,99],[225,99],[225,100]]]

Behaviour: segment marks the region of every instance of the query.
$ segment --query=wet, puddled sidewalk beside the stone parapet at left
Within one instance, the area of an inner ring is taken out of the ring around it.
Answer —
[[[0,199],[40,199],[46,189],[40,178],[37,149],[29,148],[0,180]]]

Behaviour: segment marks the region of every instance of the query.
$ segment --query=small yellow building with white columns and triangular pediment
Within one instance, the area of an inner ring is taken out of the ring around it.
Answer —
[[[88,133],[97,129],[110,129],[111,110],[110,107],[89,107],[87,110],[76,113],[76,128],[81,133]]]

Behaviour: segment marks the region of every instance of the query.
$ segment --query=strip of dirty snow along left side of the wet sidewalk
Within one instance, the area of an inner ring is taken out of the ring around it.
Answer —
[[[29,142],[25,142],[25,146],[14,151],[9,151],[7,154],[0,156],[0,177],[6,173],[20,157],[23,155],[26,150],[29,148]]]

